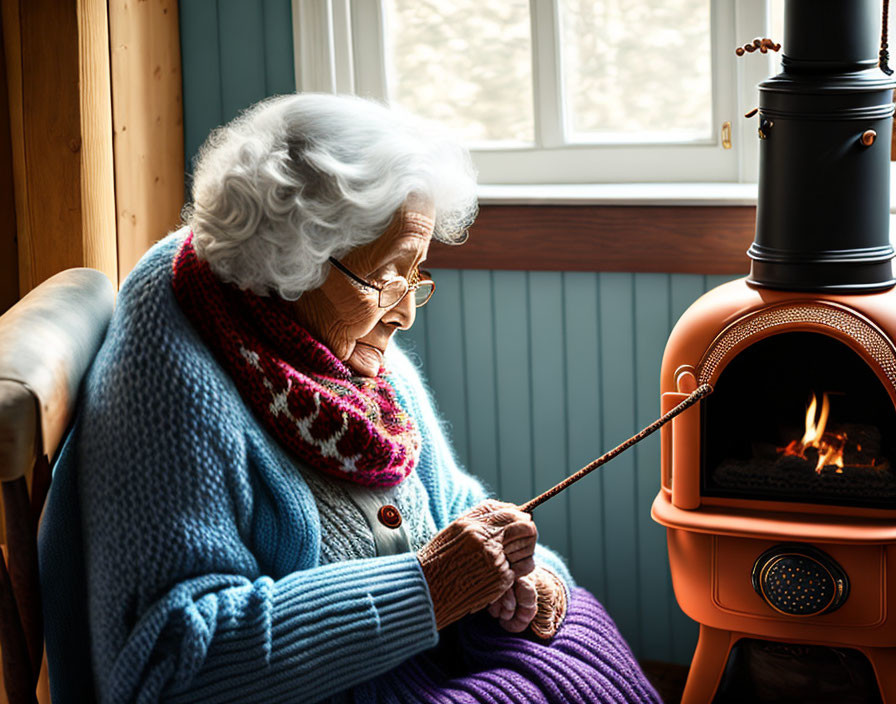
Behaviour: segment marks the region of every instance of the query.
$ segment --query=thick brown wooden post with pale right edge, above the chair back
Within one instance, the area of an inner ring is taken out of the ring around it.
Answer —
[[[117,277],[103,0],[2,0],[19,292],[63,269]]]

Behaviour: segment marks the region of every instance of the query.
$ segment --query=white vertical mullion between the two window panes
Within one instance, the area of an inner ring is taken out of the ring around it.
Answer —
[[[560,73],[560,22],[555,0],[529,0],[532,20],[532,93],[535,143],[564,143],[563,81]]]

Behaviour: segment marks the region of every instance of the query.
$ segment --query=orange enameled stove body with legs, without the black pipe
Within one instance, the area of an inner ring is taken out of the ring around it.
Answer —
[[[699,384],[715,389],[663,428],[653,504],[668,529],[675,596],[700,624],[686,704],[712,700],[747,637],[857,649],[884,701],[896,702],[896,477],[882,437],[896,431],[894,338],[896,290],[821,297],[743,279],[700,298],[672,331],[663,412]],[[878,457],[847,439],[844,467],[816,471],[811,450],[788,462],[813,387],[831,395],[834,431],[886,424],[869,441]],[[791,485],[788,475],[798,475]]]

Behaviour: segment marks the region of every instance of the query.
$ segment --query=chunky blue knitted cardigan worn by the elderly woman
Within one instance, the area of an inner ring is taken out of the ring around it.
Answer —
[[[157,244],[127,278],[54,470],[40,559],[54,704],[313,702],[438,641],[416,555],[321,566],[314,498],[181,313]],[[486,497],[457,465],[419,375],[394,385],[421,430],[441,529]],[[569,585],[562,561],[537,557]]]

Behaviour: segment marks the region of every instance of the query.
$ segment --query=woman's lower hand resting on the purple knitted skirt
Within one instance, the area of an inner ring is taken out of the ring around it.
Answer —
[[[511,633],[529,626],[539,638],[552,638],[566,615],[566,587],[553,572],[538,566],[517,578],[488,612]]]

